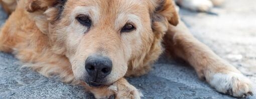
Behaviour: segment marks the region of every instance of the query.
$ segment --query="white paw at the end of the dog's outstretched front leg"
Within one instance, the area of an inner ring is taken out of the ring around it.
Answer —
[[[215,73],[208,81],[217,91],[234,97],[253,95],[252,82],[241,73]]]

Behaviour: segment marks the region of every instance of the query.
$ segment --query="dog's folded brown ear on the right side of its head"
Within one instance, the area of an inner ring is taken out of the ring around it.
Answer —
[[[177,25],[179,23],[178,13],[173,0],[150,0],[150,11],[152,18],[152,28],[156,31],[165,32],[168,24]]]

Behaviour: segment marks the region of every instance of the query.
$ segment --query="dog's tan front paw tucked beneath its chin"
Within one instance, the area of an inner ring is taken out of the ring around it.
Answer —
[[[89,87],[89,90],[94,94],[95,98],[139,99],[142,96],[142,93],[124,78],[120,78],[109,86]]]

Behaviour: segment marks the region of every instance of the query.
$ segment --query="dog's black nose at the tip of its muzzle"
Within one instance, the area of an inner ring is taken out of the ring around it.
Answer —
[[[103,55],[91,55],[85,61],[85,69],[91,79],[97,82],[106,77],[112,70],[112,61]]]

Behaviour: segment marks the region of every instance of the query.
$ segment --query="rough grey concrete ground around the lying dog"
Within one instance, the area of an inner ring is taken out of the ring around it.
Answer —
[[[181,9],[191,32],[256,83],[256,0],[226,0],[218,15]],[[6,19],[0,12],[0,25]],[[0,98],[93,98],[81,86],[64,84],[20,68],[11,54],[0,52]],[[161,58],[147,75],[127,78],[144,98],[233,98],[197,78],[186,63]],[[255,90],[256,91],[256,90]],[[254,93],[256,94],[256,93]],[[256,98],[250,96],[248,98]]]

